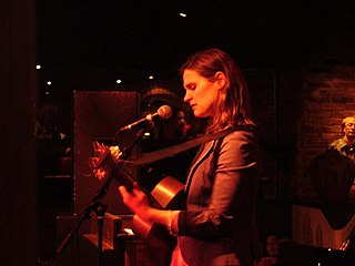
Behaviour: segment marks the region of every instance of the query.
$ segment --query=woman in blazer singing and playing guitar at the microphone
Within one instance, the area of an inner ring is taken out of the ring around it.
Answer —
[[[172,266],[252,266],[261,257],[256,229],[260,152],[242,71],[220,49],[192,54],[180,69],[184,102],[207,119],[206,134],[232,129],[203,144],[185,183],[185,206],[158,209],[134,183],[119,186],[123,203],[140,218],[176,237]]]

